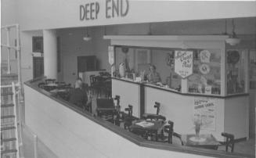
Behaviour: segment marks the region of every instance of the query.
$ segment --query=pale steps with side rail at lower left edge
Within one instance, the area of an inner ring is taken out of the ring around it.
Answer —
[[[19,158],[21,140],[21,122],[19,110],[18,86],[13,82],[1,86],[1,157]],[[19,138],[20,136],[20,138]],[[20,139],[20,143],[19,143]]]

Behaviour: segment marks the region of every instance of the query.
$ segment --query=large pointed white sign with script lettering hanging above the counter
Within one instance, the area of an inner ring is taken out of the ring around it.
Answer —
[[[193,51],[175,51],[175,73],[182,78],[193,74]]]

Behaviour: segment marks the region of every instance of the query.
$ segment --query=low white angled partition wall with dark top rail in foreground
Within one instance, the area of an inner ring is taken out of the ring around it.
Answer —
[[[26,125],[59,157],[244,157],[146,141],[91,113],[81,112],[38,88],[38,82],[27,81],[24,85]]]

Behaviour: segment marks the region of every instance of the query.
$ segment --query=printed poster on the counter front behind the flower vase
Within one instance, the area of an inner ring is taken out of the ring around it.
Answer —
[[[200,118],[202,129],[215,131],[216,103],[215,99],[196,98],[193,105],[193,117]]]

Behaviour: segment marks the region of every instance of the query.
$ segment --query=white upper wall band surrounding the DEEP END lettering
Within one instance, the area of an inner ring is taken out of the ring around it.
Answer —
[[[79,6],[99,2],[97,20],[80,20]],[[100,26],[121,23],[149,23],[179,20],[207,20],[256,16],[255,2],[128,1],[127,16],[106,19],[106,1],[27,0],[18,3],[23,30]],[[27,23],[29,21],[29,23]],[[45,23],[47,21],[47,23]]]

